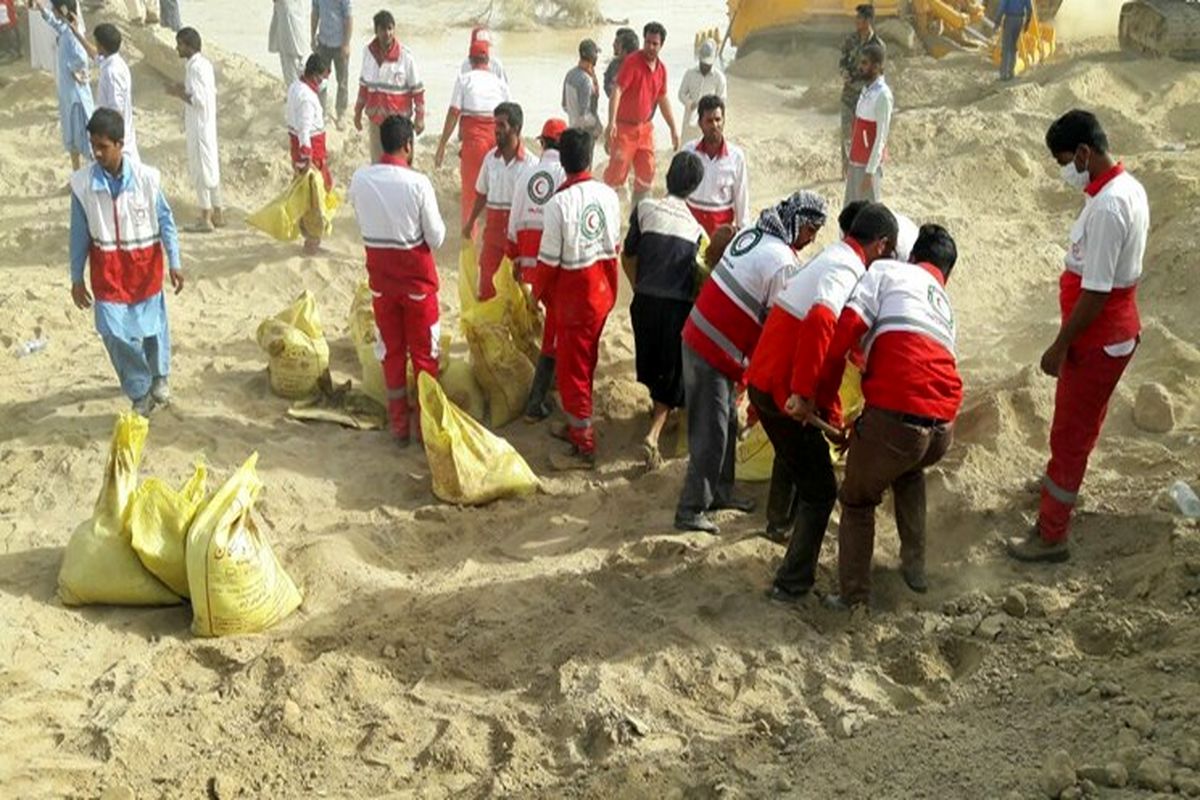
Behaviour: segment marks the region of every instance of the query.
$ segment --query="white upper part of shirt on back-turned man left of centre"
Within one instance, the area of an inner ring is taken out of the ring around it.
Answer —
[[[347,192],[367,247],[437,249],[446,237],[433,184],[421,173],[395,164],[359,167]]]

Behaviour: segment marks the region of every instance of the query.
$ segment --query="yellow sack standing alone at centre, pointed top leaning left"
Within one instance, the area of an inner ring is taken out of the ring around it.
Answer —
[[[481,505],[538,489],[538,476],[512,445],[463,414],[446,399],[438,381],[421,373],[418,391],[434,495],[446,503]]]

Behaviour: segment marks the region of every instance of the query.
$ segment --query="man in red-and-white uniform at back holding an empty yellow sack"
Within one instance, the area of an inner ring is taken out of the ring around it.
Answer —
[[[329,170],[329,151],[325,146],[325,110],[320,106],[320,88],[329,80],[329,64],[313,53],[305,62],[304,77],[288,89],[284,119],[288,124],[288,144],[292,152],[292,169],[296,175],[310,168],[320,173],[325,191],[334,188],[334,175]],[[325,221],[320,211],[312,209],[300,221],[304,233],[304,253],[314,255],[320,249],[320,236]]]

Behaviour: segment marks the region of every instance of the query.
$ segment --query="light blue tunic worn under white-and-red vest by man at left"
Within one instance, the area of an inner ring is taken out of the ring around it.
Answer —
[[[120,175],[109,175],[100,164],[88,167],[91,170],[91,188],[97,192],[108,192],[114,198],[125,191],[125,186],[133,179],[133,168],[130,160],[121,163]],[[167,254],[167,263],[170,269],[180,269],[179,263],[179,231],[175,229],[175,216],[167,205],[167,198],[158,192],[155,200],[155,210],[158,215],[158,235],[162,239],[162,248]],[[79,198],[71,194],[71,282],[83,283],[84,266],[88,264],[88,253],[91,249],[91,234],[88,230],[88,215],[83,210]],[[96,309],[96,330],[102,336],[116,336],[126,339],[145,338],[157,336],[167,326],[167,303],[163,293],[160,291],[152,297],[132,305],[122,302],[109,302],[97,300],[94,305]]]

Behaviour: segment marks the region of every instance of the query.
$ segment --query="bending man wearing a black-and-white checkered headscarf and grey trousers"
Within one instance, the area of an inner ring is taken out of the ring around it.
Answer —
[[[766,209],[728,243],[696,297],[683,329],[689,458],[676,507],[678,530],[716,534],[708,511],[754,511],[751,500],[733,497],[736,386],[775,295],[800,269],[797,254],[824,225],[826,207],[820,194],[797,192]]]

